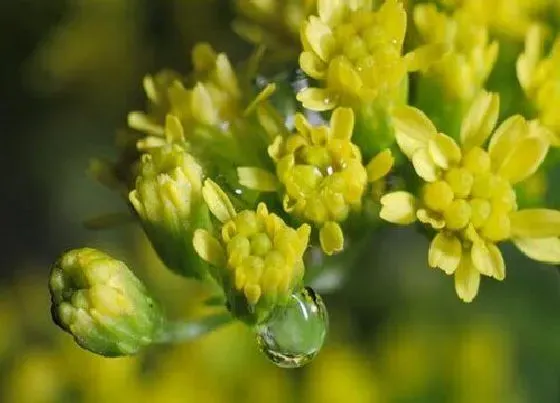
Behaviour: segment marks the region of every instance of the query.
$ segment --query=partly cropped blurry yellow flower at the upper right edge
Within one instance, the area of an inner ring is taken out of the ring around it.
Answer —
[[[547,128],[552,145],[560,146],[560,35],[548,56],[543,55],[545,30],[533,25],[525,38],[525,52],[517,60],[517,77]]]

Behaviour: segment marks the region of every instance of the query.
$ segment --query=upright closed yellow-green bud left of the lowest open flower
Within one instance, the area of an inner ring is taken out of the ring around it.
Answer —
[[[191,242],[195,229],[210,225],[196,160],[178,145],[145,154],[129,199],[161,260],[177,274],[205,278],[207,265]]]

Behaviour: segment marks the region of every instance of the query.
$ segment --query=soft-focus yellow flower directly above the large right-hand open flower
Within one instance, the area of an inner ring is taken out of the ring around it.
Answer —
[[[449,50],[426,71],[451,99],[470,102],[483,88],[496,58],[498,42],[490,42],[488,29],[463,10],[452,16],[433,4],[414,7],[414,23],[428,44],[445,43]]]

